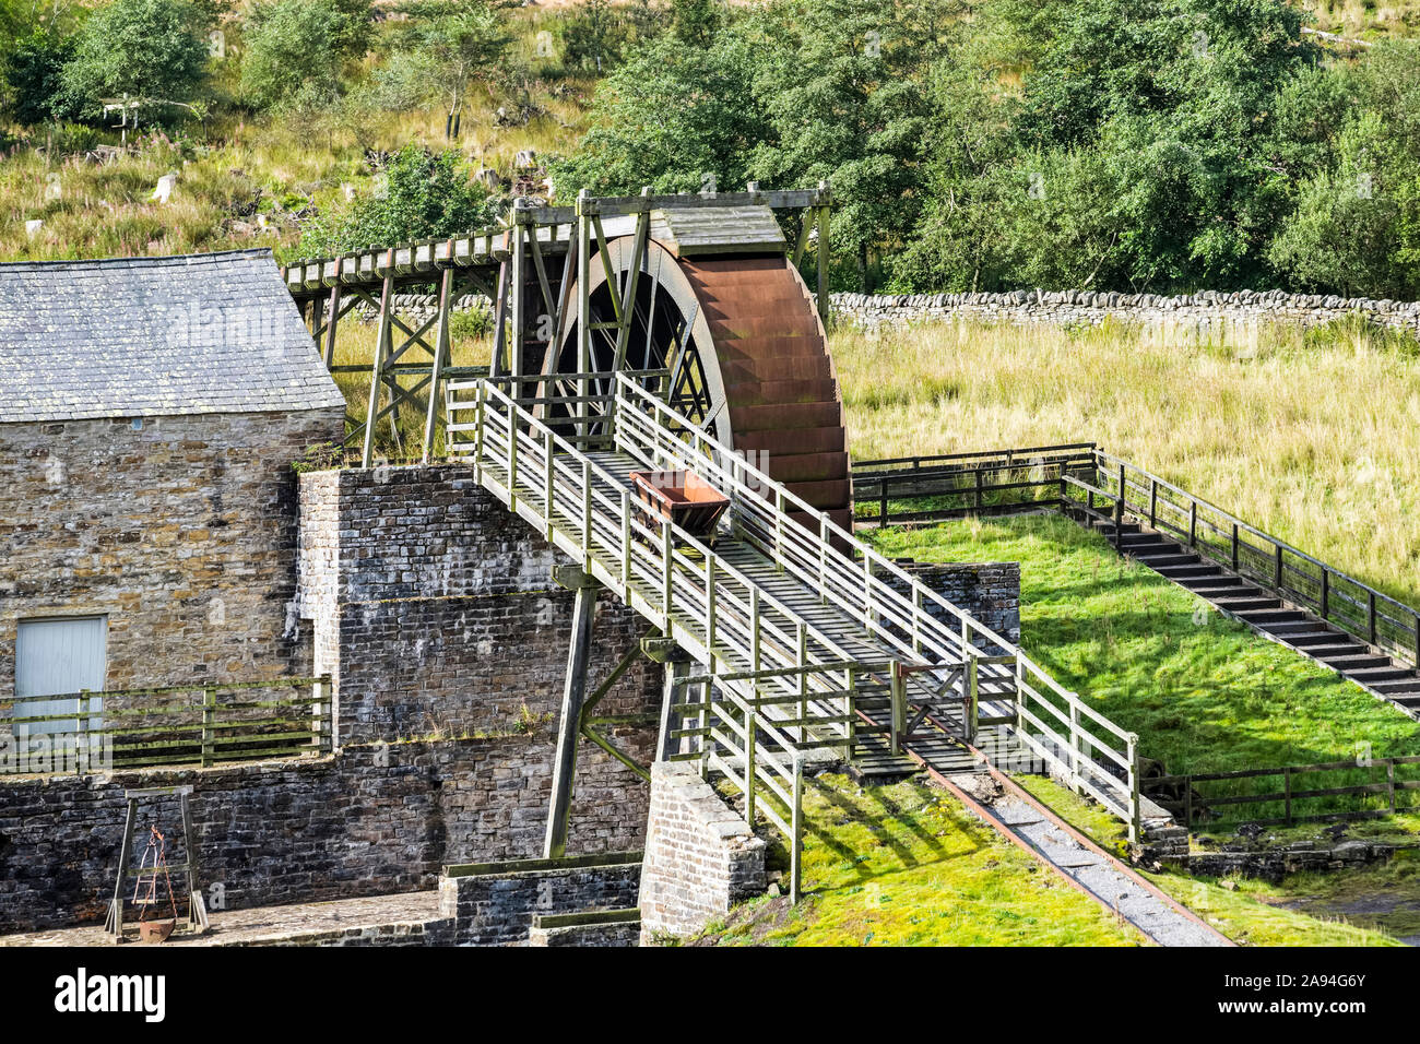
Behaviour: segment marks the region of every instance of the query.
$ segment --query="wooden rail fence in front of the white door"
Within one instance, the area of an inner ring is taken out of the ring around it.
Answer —
[[[11,697],[0,702],[0,774],[324,754],[331,713],[329,675]]]

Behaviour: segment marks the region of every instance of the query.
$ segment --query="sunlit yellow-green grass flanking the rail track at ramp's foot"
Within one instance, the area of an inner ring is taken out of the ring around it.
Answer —
[[[1025,780],[1061,815],[1118,851],[1119,822],[1056,784]],[[1130,925],[1075,891],[920,783],[859,787],[821,776],[805,787],[804,899],[761,898],[711,923],[710,946],[1139,946]],[[782,864],[782,848],[771,852]],[[1228,937],[1254,946],[1394,946],[1346,923],[1326,899],[1339,886],[1284,889],[1180,874],[1159,886]],[[1331,891],[1328,891],[1331,889]],[[1321,896],[1308,903],[1308,896]],[[1304,905],[1288,909],[1285,903]],[[1315,912],[1314,912],[1315,908]],[[1342,918],[1346,918],[1345,920]]]

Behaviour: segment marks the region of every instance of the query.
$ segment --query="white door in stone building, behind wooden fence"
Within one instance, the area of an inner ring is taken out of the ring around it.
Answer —
[[[14,695],[50,696],[77,693],[81,689],[104,690],[108,662],[108,618],[77,616],[68,619],[23,619],[14,642]],[[88,727],[101,724],[101,700],[89,700]],[[21,703],[16,717],[78,714],[78,700],[34,700]],[[17,733],[78,732],[78,719],[34,722],[16,727]]]

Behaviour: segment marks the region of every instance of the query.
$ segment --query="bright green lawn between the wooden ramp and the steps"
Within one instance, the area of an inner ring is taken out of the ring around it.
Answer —
[[[869,530],[919,561],[1021,562],[1021,645],[1170,773],[1420,754],[1420,726],[1059,516]]]

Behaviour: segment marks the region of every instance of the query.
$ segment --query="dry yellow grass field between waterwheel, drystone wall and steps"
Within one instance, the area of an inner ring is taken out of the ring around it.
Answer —
[[[832,351],[859,460],[1093,440],[1420,605],[1420,345],[940,325]]]

